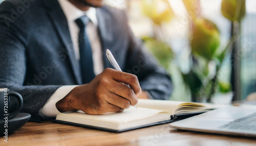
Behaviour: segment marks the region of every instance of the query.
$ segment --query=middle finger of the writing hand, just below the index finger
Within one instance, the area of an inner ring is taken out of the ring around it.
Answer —
[[[111,81],[111,86],[107,87],[110,92],[121,96],[130,101],[131,105],[136,105],[138,103],[138,97],[136,96],[133,89],[119,83],[117,81]]]

